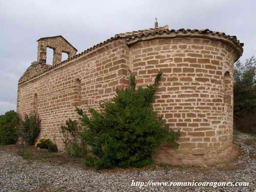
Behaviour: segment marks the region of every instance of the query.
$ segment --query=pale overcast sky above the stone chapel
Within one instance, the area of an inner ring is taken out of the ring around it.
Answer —
[[[62,35],[86,50],[117,33],[153,28],[210,29],[244,42],[241,60],[256,52],[256,1],[5,1],[0,0],[0,115],[16,110],[17,82],[36,61],[40,37]]]

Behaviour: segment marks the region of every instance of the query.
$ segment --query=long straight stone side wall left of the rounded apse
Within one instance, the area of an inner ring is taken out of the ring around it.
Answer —
[[[115,89],[122,89],[127,83],[126,54],[129,55],[124,41],[115,41],[20,84],[17,112],[24,116],[37,105],[42,120],[39,138],[49,137],[63,147],[60,126],[68,118],[78,119],[75,105],[87,112],[87,104],[99,109],[99,101],[110,100]],[[77,81],[81,84],[80,92]]]

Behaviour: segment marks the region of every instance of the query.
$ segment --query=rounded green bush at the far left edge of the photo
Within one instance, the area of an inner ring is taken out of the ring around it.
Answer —
[[[18,114],[11,110],[0,117],[0,145],[15,144],[18,140],[17,129],[20,123]]]

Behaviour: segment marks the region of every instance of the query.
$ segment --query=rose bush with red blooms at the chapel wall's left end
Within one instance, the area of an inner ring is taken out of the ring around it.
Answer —
[[[20,127],[20,135],[30,145],[34,144],[35,139],[40,133],[41,119],[37,114],[25,115],[22,126]]]

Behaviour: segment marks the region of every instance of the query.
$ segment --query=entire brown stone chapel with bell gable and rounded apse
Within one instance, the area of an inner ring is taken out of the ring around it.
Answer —
[[[54,50],[46,64],[46,48]],[[69,55],[61,61],[61,53]],[[62,36],[38,40],[37,62],[18,82],[17,112],[36,112],[41,137],[63,149],[60,126],[78,119],[79,106],[99,110],[116,88],[129,84],[131,70],[137,83],[152,83],[163,72],[153,103],[174,130],[179,148],[168,143],[155,154],[158,163],[200,164],[230,159],[233,148],[233,63],[243,53],[236,36],[204,30],[169,30],[168,26],[121,33],[76,54]],[[88,105],[87,105],[88,104]],[[83,127],[79,127],[82,131]]]

